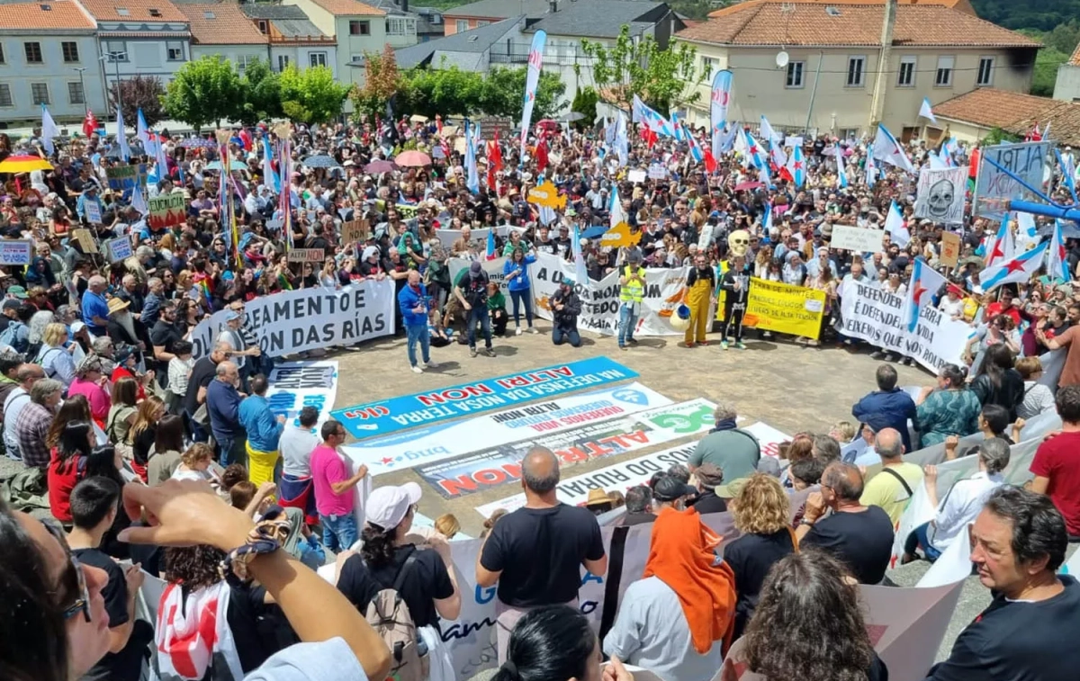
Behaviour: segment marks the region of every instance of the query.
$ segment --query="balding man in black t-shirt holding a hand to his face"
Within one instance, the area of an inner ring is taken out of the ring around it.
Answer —
[[[892,556],[893,530],[880,506],[863,506],[863,474],[850,463],[833,462],[821,491],[807,498],[795,534],[800,546],[816,546],[847,563],[861,584],[878,584]],[[832,513],[825,517],[825,509]]]

